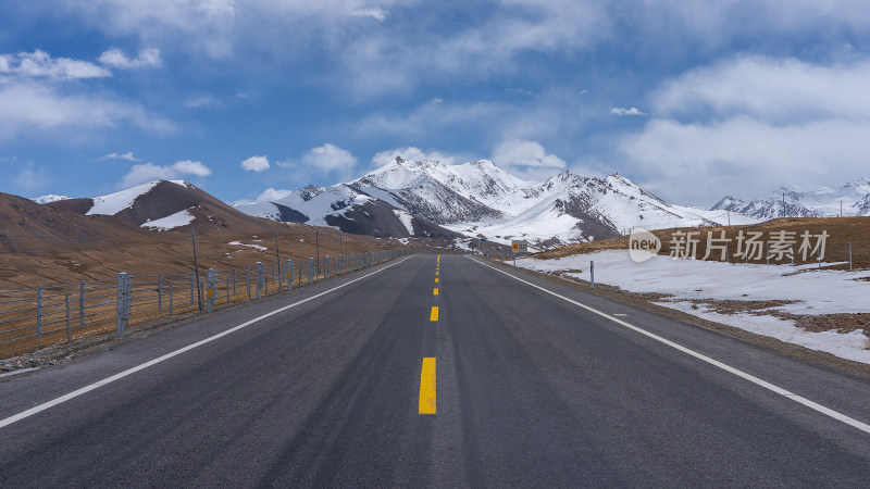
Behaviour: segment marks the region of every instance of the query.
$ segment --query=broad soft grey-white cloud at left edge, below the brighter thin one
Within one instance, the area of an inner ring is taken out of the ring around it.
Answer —
[[[0,139],[35,131],[64,129],[70,136],[92,136],[95,127],[122,123],[157,133],[172,134],[175,125],[148,113],[137,103],[98,95],[67,95],[50,84],[0,84]]]

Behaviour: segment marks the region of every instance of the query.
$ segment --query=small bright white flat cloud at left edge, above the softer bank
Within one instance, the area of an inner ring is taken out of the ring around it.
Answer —
[[[109,71],[94,63],[70,58],[51,58],[50,54],[38,49],[34,52],[0,55],[0,74],[53,80],[112,76]]]

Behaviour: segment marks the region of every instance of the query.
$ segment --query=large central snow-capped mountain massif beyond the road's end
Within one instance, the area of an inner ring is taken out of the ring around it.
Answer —
[[[348,220],[350,212],[357,212],[352,221],[358,225],[364,222],[365,214],[357,210],[366,205],[387,205],[394,214],[405,212],[412,220],[467,236],[505,243],[527,239],[538,247],[612,237],[633,227],[729,221],[728,211],[669,204],[619,174],[594,178],[563,172],[536,183],[518,178],[487,160],[450,165],[396,158],[348,184],[296,192],[270,190],[258,202],[236,208],[276,221],[336,226]],[[731,221],[755,222],[739,215],[731,215]]]

